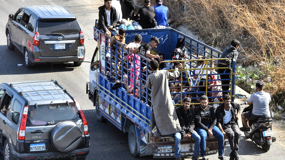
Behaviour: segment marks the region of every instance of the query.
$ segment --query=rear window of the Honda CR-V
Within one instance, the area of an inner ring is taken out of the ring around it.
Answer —
[[[30,105],[26,126],[54,125],[61,121],[78,120],[79,114],[74,103],[45,104],[37,107]]]

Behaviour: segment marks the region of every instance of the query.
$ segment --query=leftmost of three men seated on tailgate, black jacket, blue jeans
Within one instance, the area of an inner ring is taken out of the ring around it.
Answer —
[[[176,114],[178,116],[179,124],[181,127],[181,132],[175,133],[175,157],[176,159],[181,159],[181,151],[180,151],[180,141],[181,137],[183,139],[190,139],[191,137],[195,140],[194,145],[194,154],[192,159],[198,160],[199,152],[200,152],[200,136],[196,131],[195,128],[195,111],[190,108],[191,98],[186,97],[183,99],[183,105],[176,108]]]

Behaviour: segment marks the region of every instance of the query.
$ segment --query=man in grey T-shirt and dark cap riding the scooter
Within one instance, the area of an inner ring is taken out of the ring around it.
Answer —
[[[247,104],[253,104],[252,111],[248,111],[241,114],[241,119],[245,127],[241,127],[242,132],[250,132],[250,127],[248,125],[248,120],[254,121],[255,119],[261,118],[265,113],[269,112],[269,103],[271,102],[270,94],[264,92],[264,84],[259,81],[255,84],[256,93],[252,94],[247,100]]]

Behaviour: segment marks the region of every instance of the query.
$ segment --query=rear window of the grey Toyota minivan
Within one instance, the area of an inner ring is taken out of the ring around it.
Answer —
[[[80,28],[76,19],[39,20],[37,31],[40,35],[51,33],[69,35],[79,34]]]

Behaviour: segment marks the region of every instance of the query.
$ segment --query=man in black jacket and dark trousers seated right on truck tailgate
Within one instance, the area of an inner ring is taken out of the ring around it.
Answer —
[[[240,105],[231,102],[231,96],[223,96],[223,102],[217,107],[216,119],[217,125],[224,135],[228,136],[229,145],[232,152],[229,154],[230,160],[238,160],[238,143],[240,141],[240,129],[238,127],[238,117],[240,114]]]

